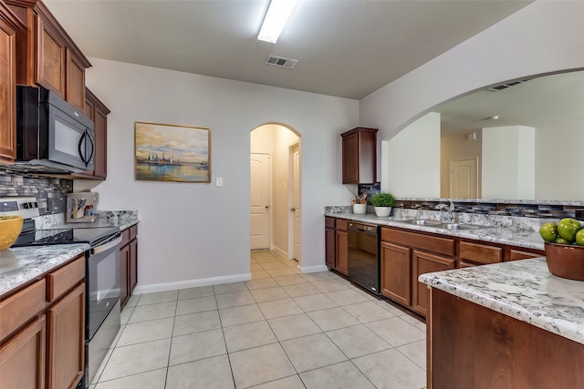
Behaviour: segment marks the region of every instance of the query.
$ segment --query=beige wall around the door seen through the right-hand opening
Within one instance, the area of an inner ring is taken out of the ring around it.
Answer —
[[[477,197],[481,197],[481,131],[473,131],[476,133],[475,140],[469,140],[468,134],[456,134],[450,137],[443,137],[440,139],[440,197],[450,197],[450,162],[465,159],[478,159],[478,193]]]

